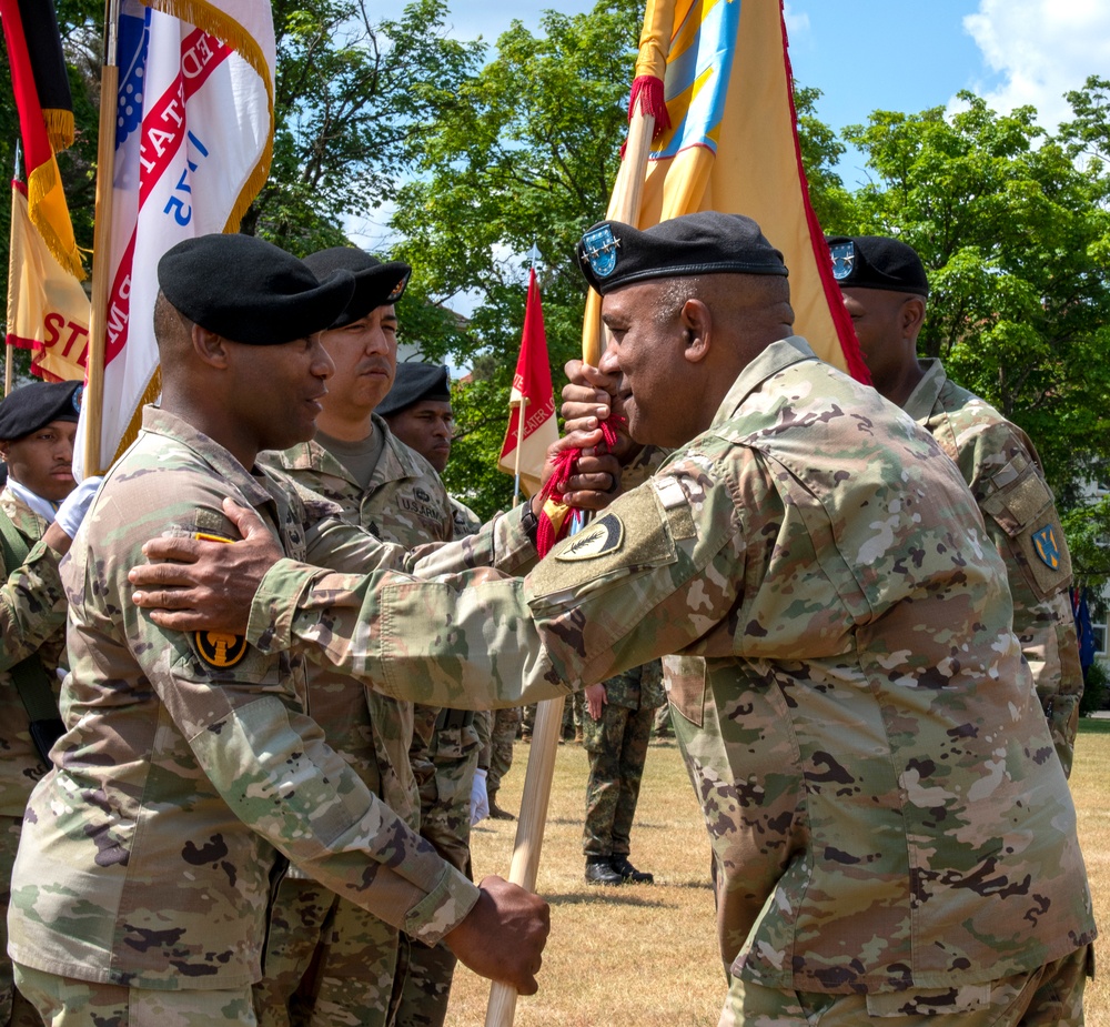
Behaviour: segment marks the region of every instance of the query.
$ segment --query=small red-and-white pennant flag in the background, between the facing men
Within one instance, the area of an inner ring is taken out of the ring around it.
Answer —
[[[516,360],[508,405],[512,413],[497,466],[509,474],[518,473],[524,492],[533,495],[539,490],[547,447],[558,440],[552,369],[547,360],[547,335],[544,332],[544,312],[534,268],[528,274],[521,355]]]

